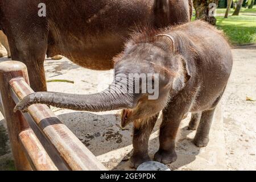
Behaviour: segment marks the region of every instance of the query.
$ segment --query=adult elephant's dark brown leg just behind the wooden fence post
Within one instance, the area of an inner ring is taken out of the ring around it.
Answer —
[[[44,60],[47,52],[47,31],[38,30],[34,35],[20,39],[10,36],[12,59],[26,64],[30,86],[35,92],[47,91]],[[26,35],[26,34],[25,34]]]

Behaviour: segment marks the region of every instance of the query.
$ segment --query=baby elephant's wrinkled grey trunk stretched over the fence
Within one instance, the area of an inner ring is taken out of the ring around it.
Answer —
[[[14,111],[27,111],[32,104],[46,104],[64,109],[79,111],[109,111],[131,108],[133,106],[133,94],[123,93],[115,87],[115,84],[101,93],[78,95],[55,92],[36,92],[23,98]]]

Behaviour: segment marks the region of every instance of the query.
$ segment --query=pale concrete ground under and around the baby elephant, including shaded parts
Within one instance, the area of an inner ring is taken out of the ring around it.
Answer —
[[[216,110],[209,145],[197,148],[192,144],[195,131],[187,130],[189,117],[184,119],[177,141],[178,159],[168,165],[172,170],[256,170],[256,102],[246,101],[246,96],[256,98],[256,46],[233,49],[233,55],[233,73]],[[45,69],[47,80],[75,81],[49,82],[48,90],[54,92],[100,92],[113,78],[113,71],[92,71],[67,59],[46,60]],[[130,170],[127,159],[132,150],[133,128],[121,129],[120,111],[89,113],[54,107],[52,110],[106,167]],[[0,170],[14,169],[2,115],[0,119]],[[160,121],[159,118],[150,138],[151,157],[158,150]]]

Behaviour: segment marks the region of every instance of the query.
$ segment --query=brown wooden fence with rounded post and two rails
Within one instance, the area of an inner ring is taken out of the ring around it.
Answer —
[[[15,104],[34,92],[26,65],[0,63],[0,90],[16,169],[106,170],[48,106],[32,105],[28,113],[14,113]]]

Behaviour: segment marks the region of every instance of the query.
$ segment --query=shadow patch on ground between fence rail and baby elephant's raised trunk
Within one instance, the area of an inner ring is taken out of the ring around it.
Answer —
[[[93,114],[73,112],[57,117],[96,156],[123,148],[131,144],[133,127],[122,130],[119,114]]]

